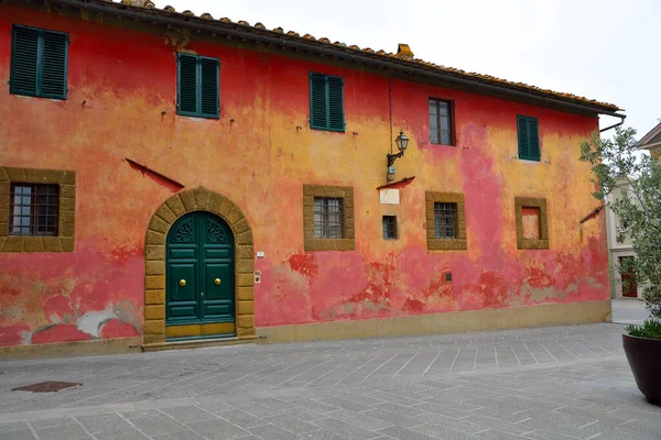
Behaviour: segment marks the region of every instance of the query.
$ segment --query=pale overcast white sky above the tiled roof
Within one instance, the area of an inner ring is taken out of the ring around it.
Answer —
[[[375,51],[397,52],[398,43],[408,43],[415,57],[447,67],[615,103],[638,139],[661,119],[661,0],[155,3]],[[602,117],[600,125],[618,121]]]

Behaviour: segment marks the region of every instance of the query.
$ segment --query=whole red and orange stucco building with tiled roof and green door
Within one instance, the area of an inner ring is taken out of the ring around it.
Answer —
[[[144,0],[3,1],[0,77],[3,355],[610,311],[614,105]]]

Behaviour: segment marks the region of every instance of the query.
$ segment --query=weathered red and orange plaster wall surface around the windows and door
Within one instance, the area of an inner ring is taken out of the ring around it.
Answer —
[[[578,229],[595,206],[578,143],[596,118],[393,79],[393,135],[411,138],[398,177],[415,180],[386,206],[384,76],[0,4],[2,84],[12,23],[69,33],[66,101],[0,89],[0,165],[77,173],[76,250],[0,253],[0,345],[141,333],[144,234],[171,191],[124,157],[243,210],[266,253],[258,327],[609,296],[604,219]],[[220,59],[219,120],[176,116],[181,50]],[[310,130],[310,70],[344,77],[346,133]],[[429,143],[430,97],[455,101],[456,147]],[[541,163],[516,160],[517,114],[539,118]],[[303,184],[354,187],[356,251],[303,251]],[[425,190],[465,194],[467,251],[426,250]],[[517,250],[516,196],[546,198],[549,251]]]

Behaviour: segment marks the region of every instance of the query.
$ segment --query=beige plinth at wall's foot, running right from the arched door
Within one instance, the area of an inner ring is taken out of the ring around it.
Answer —
[[[610,299],[603,299],[397,318],[261,327],[257,329],[257,336],[259,343],[413,337],[604,322],[610,318]]]

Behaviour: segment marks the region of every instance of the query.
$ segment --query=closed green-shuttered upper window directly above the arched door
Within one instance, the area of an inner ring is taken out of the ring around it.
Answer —
[[[177,113],[188,117],[220,117],[217,58],[177,54]]]

